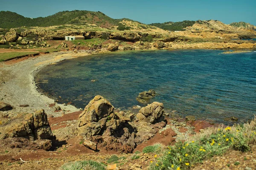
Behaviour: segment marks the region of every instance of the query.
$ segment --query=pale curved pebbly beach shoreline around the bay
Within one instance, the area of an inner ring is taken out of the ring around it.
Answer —
[[[49,98],[47,95],[38,91],[38,87],[35,82],[35,78],[39,71],[44,69],[47,65],[56,64],[65,59],[73,59],[77,57],[86,57],[93,54],[113,54],[122,52],[139,52],[139,51],[154,51],[154,50],[196,50],[195,48],[163,48],[163,49],[144,49],[144,50],[130,50],[130,51],[96,51],[89,53],[88,51],[61,51],[51,54],[43,54],[35,57],[28,57],[27,59],[12,62],[0,63],[0,99],[3,102],[7,102],[14,107],[11,111],[4,111],[9,115],[16,115],[15,112],[33,112],[35,110],[44,109],[49,115],[54,117],[61,116],[61,112],[54,112],[54,108],[50,108],[49,104],[55,103],[56,106],[60,106],[61,110],[65,110],[65,113],[72,113],[80,111],[74,105],[63,105]],[[200,49],[200,48],[197,48]],[[207,49],[205,50],[223,50],[224,49]],[[230,49],[229,49],[230,50]],[[238,50],[238,49],[237,49]],[[252,49],[253,50],[253,49]],[[241,50],[240,50],[241,51]],[[2,75],[1,75],[2,74]],[[12,78],[10,78],[12,77]],[[19,87],[17,87],[19,86]],[[29,105],[29,107],[23,108],[19,105]],[[83,108],[82,108],[83,109]]]

